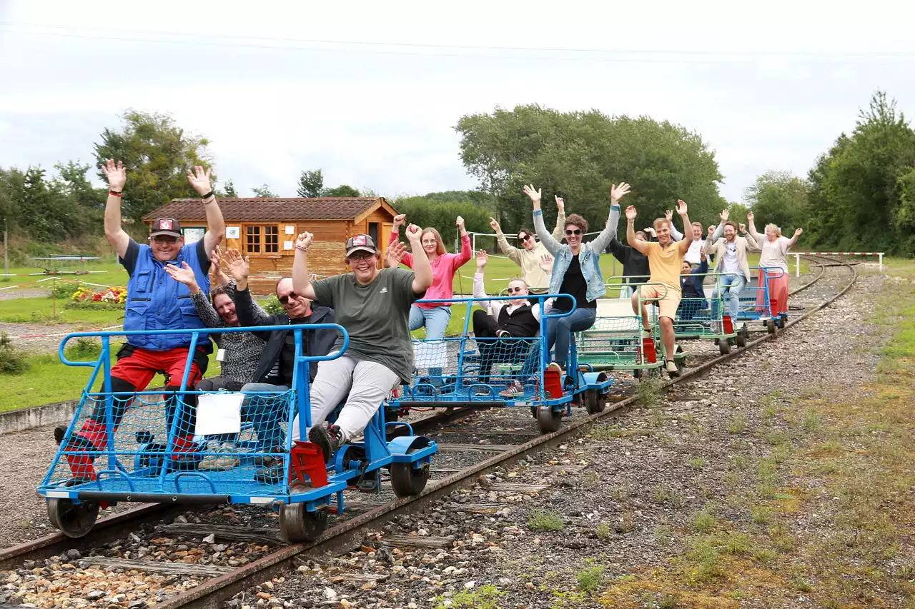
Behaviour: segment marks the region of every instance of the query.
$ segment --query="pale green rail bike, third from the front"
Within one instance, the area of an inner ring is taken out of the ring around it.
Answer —
[[[650,332],[643,332],[641,313],[634,313],[629,297],[615,298],[622,284],[619,277],[607,280],[608,296],[597,300],[597,320],[591,328],[576,335],[578,361],[592,370],[626,370],[636,379],[654,373],[664,364],[661,328],[657,315],[650,315]],[[631,284],[638,289],[644,283]],[[655,299],[639,303],[653,305]],[[641,307],[639,307],[641,310]],[[674,358],[682,368],[683,357]]]

